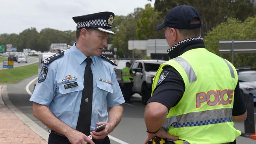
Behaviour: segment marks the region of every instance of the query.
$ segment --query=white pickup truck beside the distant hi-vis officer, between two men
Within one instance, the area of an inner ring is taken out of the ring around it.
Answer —
[[[134,76],[134,86],[132,87],[132,92],[141,95],[141,100],[143,104],[147,103],[150,98],[152,82],[159,66],[167,61],[162,60],[152,60],[152,59],[141,59],[135,60],[132,63],[132,70],[136,72]]]

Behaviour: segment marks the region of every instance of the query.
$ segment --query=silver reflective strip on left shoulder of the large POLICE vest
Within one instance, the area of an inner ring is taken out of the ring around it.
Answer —
[[[175,57],[173,58],[174,61],[177,61],[182,68],[186,71],[187,77],[189,79],[189,83],[192,83],[197,80],[197,76],[191,67],[191,65],[182,57]]]

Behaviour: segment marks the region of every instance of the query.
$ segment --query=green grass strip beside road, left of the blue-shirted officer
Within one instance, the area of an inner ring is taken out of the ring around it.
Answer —
[[[29,78],[38,73],[38,63],[0,70],[0,83],[19,83],[24,78]]]

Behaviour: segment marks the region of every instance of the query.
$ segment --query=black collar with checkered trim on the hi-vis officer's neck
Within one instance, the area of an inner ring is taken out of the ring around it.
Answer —
[[[167,50],[170,59],[174,57],[178,57],[182,55],[184,52],[188,50],[192,50],[195,48],[205,48],[204,41],[202,37],[192,37],[189,39],[182,40],[175,44],[173,47]]]

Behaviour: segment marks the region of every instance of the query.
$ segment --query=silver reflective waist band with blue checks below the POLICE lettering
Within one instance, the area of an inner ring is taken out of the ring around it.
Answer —
[[[173,120],[176,119],[176,122]],[[165,120],[163,128],[167,127],[193,127],[208,124],[218,124],[223,122],[233,122],[232,109],[214,109],[208,111],[192,112],[179,116],[172,116]]]

